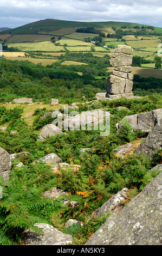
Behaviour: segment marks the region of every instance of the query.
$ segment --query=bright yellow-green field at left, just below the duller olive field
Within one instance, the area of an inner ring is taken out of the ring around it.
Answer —
[[[21,51],[44,51],[44,52],[60,52],[64,51],[63,46],[55,46],[53,42],[15,42],[7,44],[8,47],[17,47]]]

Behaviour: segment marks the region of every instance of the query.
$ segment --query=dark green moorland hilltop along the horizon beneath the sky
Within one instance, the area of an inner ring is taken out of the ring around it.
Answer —
[[[55,20],[55,19],[46,19],[36,22],[23,25],[21,27],[7,29],[0,32],[0,34],[55,34],[54,32],[62,28],[82,28],[82,27],[95,27],[102,31],[107,30],[108,28],[116,27],[120,29],[121,27],[127,26],[127,28],[133,28],[134,26],[142,26],[137,23],[130,22],[79,22],[79,21],[64,21],[64,20]],[[162,33],[162,28],[154,27],[155,31]]]

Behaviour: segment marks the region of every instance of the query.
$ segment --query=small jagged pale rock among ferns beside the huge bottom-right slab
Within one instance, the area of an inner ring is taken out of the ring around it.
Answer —
[[[125,199],[127,199],[127,191],[128,188],[124,187],[122,188],[121,191],[118,193],[114,194],[105,204],[103,204],[100,208],[96,209],[91,216],[92,217],[100,217],[100,216],[105,216],[108,212],[111,214],[113,212],[118,212],[120,211],[123,207],[124,204],[121,204],[121,202]]]

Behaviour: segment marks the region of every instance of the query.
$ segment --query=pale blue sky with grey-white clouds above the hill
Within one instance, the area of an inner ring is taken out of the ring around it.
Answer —
[[[162,27],[160,0],[1,0],[0,27],[44,19],[123,21]]]

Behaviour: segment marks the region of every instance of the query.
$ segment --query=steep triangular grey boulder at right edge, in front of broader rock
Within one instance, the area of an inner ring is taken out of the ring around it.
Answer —
[[[138,155],[147,155],[152,159],[152,155],[162,148],[162,119],[158,122],[152,131],[148,133],[145,141],[142,142],[135,151]]]

